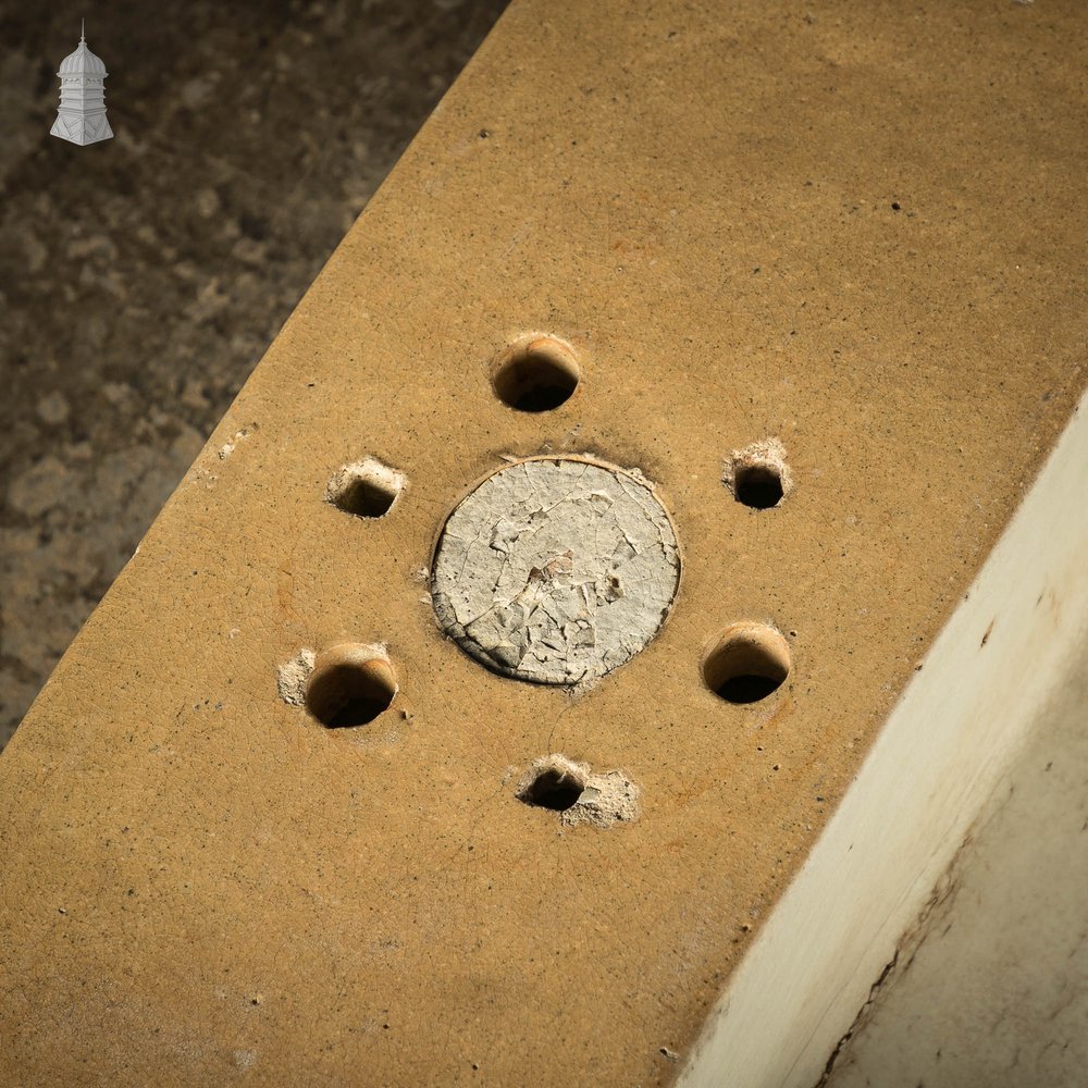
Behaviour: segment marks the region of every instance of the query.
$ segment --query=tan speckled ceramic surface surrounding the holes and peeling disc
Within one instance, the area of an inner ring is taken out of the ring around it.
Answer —
[[[0,757],[0,1081],[669,1080],[1083,385],[1085,28],[516,2]],[[541,416],[487,384],[533,331],[583,370]],[[794,490],[754,512],[719,478],[770,435]],[[418,580],[548,450],[640,468],[684,557],[573,701]],[[364,456],[408,478],[381,521],[323,502]],[[698,662],[746,619],[794,669],[730,706]],[[275,689],[343,641],[400,682],[354,732]],[[548,752],[640,818],[519,803]]]

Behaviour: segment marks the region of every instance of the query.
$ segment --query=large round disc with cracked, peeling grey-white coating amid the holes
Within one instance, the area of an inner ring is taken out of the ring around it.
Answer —
[[[652,486],[584,457],[536,457],[487,477],[446,521],[432,564],[446,632],[503,676],[576,684],[658,632],[680,552]]]

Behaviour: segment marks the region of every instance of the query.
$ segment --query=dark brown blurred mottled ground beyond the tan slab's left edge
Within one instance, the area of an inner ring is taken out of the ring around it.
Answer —
[[[0,746],[505,4],[0,0]]]

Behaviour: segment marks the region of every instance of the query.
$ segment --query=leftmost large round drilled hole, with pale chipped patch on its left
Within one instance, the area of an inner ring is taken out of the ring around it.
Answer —
[[[334,646],[320,654],[306,684],[306,708],[330,729],[364,726],[397,693],[393,668],[372,646]]]

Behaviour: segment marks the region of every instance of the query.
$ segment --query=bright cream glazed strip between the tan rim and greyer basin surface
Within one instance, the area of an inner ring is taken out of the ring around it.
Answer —
[[[683,1088],[811,1088],[1068,673],[1088,622],[1084,403],[733,975]]]

